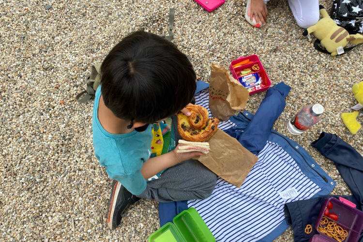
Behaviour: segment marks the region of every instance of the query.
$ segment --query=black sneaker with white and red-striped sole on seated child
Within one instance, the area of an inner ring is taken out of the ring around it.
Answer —
[[[119,181],[113,180],[111,197],[108,201],[107,225],[115,229],[120,225],[122,213],[131,205],[140,200],[121,185]]]

